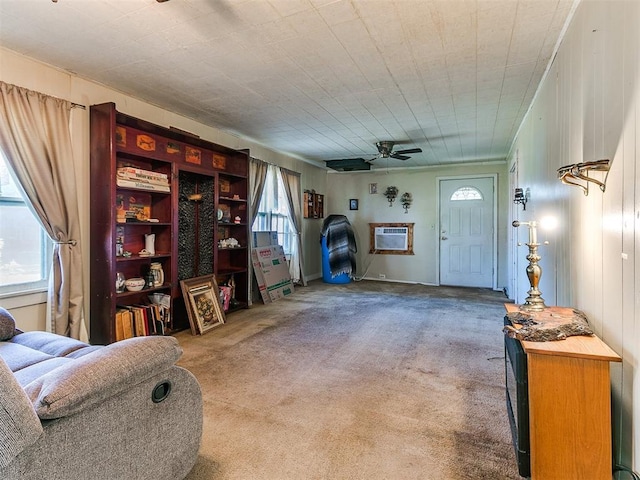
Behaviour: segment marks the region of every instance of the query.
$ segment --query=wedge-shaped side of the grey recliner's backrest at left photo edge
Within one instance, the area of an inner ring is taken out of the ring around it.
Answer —
[[[0,470],[42,434],[42,424],[13,372],[0,357]]]

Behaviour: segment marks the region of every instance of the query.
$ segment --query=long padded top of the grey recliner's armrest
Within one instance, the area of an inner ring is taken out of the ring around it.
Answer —
[[[62,365],[24,390],[40,418],[66,417],[170,368],[180,355],[173,337],[129,338]]]

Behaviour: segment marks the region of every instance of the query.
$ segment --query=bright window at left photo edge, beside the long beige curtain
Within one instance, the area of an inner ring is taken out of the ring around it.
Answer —
[[[46,289],[50,265],[51,241],[0,152],[0,294]]]

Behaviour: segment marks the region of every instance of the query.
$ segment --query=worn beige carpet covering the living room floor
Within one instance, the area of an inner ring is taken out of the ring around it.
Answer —
[[[518,479],[499,292],[311,282],[184,331],[204,433],[189,480]],[[170,446],[168,446],[170,448]]]

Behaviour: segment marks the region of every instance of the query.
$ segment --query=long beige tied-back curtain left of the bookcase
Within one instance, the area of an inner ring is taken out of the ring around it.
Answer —
[[[66,100],[0,82],[0,148],[25,203],[54,243],[47,325],[54,333],[86,340],[80,218],[69,126],[72,106]]]

